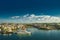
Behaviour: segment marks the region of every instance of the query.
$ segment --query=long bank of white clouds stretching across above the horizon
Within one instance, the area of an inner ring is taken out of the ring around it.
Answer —
[[[49,16],[49,15],[38,15],[26,14],[24,16],[13,16],[12,19],[3,20],[3,22],[16,22],[16,23],[53,23],[60,22],[60,17]],[[0,20],[2,21],[2,20]]]

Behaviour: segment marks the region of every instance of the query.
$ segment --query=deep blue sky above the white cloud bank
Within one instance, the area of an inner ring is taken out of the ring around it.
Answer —
[[[0,19],[24,15],[60,17],[59,0],[0,0]],[[0,20],[2,21],[2,20]]]

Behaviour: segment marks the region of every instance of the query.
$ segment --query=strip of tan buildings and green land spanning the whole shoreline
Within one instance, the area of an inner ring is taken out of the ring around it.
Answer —
[[[39,30],[59,30],[60,23],[30,23],[30,24],[19,24],[19,23],[1,23],[0,33],[9,34],[16,33],[19,29],[26,31],[27,28],[38,28]]]

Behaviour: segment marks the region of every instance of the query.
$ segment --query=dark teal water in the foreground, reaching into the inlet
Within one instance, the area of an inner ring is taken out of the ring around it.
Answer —
[[[20,36],[18,34],[0,35],[0,40],[60,40],[60,30],[38,30],[28,28],[32,32],[30,36]]]

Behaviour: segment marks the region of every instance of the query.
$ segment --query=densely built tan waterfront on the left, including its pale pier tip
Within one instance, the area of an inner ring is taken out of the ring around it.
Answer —
[[[26,27],[22,24],[20,25],[0,25],[0,34],[10,35],[10,34],[19,34],[19,35],[31,35],[31,32],[26,30]]]

